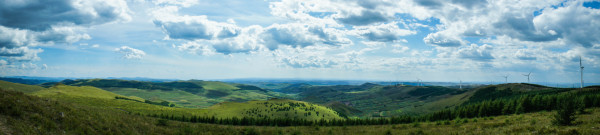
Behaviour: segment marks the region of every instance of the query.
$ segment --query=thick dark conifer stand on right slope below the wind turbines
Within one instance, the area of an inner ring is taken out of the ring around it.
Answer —
[[[559,104],[570,103],[580,112],[589,107],[600,107],[600,90],[564,92],[549,95],[522,95],[516,98],[485,100],[421,116],[421,121],[452,120],[455,118],[488,117],[522,114],[560,109]]]

